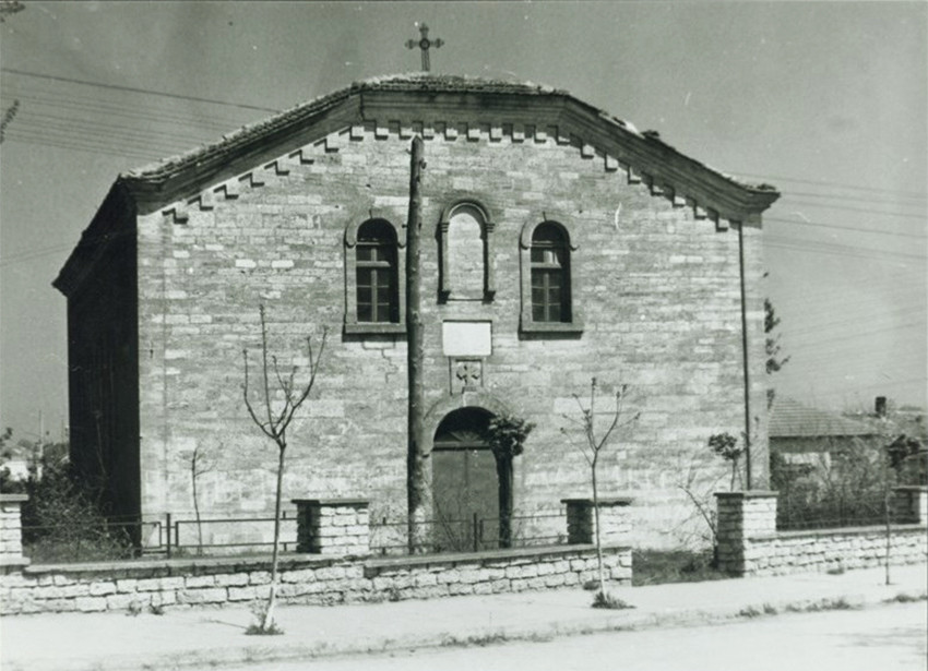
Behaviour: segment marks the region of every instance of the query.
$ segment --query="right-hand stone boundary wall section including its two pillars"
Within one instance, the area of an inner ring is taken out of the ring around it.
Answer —
[[[881,566],[884,526],[776,530],[776,492],[716,493],[719,568],[734,575],[783,575]],[[890,534],[890,563],[928,561],[926,488],[899,488],[897,523]]]

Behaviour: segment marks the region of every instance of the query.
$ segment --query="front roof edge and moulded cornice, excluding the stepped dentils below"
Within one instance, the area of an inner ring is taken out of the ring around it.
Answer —
[[[579,100],[562,89],[534,83],[430,73],[398,74],[350,86],[246,125],[219,141],[120,176],[141,212],[156,209],[211,181],[241,172],[274,153],[292,151],[307,140],[365,121],[384,125],[400,119],[473,122],[536,121],[557,125],[571,142],[624,160],[693,196],[726,218],[761,212],[778,196],[768,184],[749,184],[677,152],[653,131],[639,132],[621,119]],[[313,133],[313,129],[318,132]],[[288,142],[290,139],[296,143]],[[270,151],[270,153],[269,153]],[[674,164],[677,165],[674,165]],[[250,165],[249,165],[250,164]],[[687,179],[687,176],[690,179]],[[703,191],[695,183],[705,183]],[[678,187],[679,184],[679,187]],[[685,188],[689,185],[690,188]],[[682,188],[681,188],[682,187]],[[713,202],[709,202],[713,201]]]

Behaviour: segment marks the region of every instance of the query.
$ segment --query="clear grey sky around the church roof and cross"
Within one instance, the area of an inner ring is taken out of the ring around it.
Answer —
[[[51,287],[120,172],[354,81],[531,81],[775,184],[766,292],[781,395],[926,405],[928,3],[34,2],[0,24],[0,427],[58,439]],[[7,115],[9,117],[9,115]]]

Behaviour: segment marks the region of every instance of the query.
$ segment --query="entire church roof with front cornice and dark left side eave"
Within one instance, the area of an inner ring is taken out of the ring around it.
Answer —
[[[472,131],[485,128],[491,135],[508,129],[513,141],[516,128],[523,134],[532,129],[535,141],[557,133],[558,143],[576,147],[585,158],[602,159],[605,170],[622,168],[630,180],[634,172],[653,194],[716,221],[743,221],[780,197],[769,184],[724,175],[681,154],[658,133],[639,132],[562,89],[459,75],[397,74],[356,82],[216,142],[120,175],[52,284],[66,295],[73,291],[112,233],[124,228],[126,215],[162,211],[179,218],[188,203],[202,205],[213,191],[237,188],[265,166],[302,156],[306,147],[328,142],[333,133],[373,127],[377,136],[380,131],[429,136],[427,131],[444,129],[445,137],[453,139],[465,125],[468,139]]]

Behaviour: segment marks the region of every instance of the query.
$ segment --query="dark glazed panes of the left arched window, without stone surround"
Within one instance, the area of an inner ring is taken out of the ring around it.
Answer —
[[[357,320],[359,323],[398,323],[396,233],[383,219],[358,228],[355,248]]]

